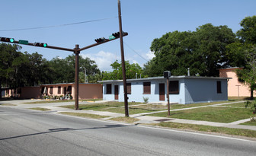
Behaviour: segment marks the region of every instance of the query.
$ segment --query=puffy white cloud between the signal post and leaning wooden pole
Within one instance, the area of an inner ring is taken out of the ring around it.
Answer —
[[[98,53],[81,54],[81,56],[83,58],[88,57],[91,60],[94,60],[101,71],[111,71],[112,68],[110,67],[110,64],[112,64],[116,59],[118,59],[117,56],[113,53],[104,51],[100,51]]]

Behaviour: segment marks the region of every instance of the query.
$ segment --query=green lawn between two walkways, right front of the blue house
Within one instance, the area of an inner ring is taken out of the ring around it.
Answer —
[[[168,112],[155,113],[150,116],[193,119],[217,123],[232,123],[240,119],[248,119],[251,116],[251,110],[234,107],[203,107],[191,110],[174,111],[171,112],[170,116],[168,116]]]

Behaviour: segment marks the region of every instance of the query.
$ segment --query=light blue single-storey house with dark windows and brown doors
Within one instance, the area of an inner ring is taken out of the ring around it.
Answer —
[[[227,81],[229,78],[171,76],[169,78],[170,103],[203,103],[228,100]],[[98,81],[103,84],[104,100],[123,100],[123,80]],[[128,79],[129,102],[167,102],[167,80],[164,77]]]

